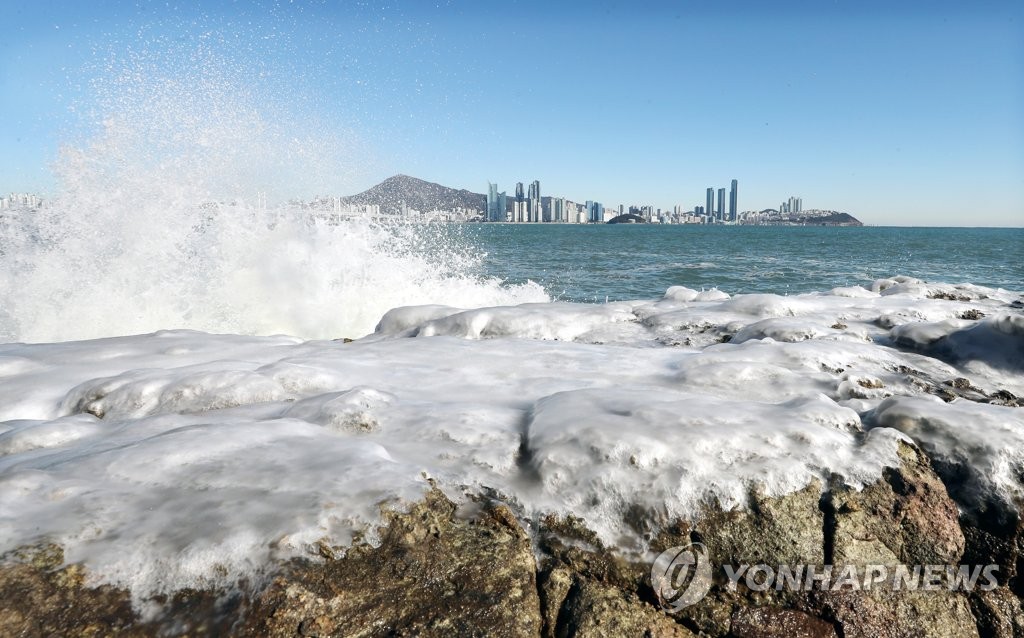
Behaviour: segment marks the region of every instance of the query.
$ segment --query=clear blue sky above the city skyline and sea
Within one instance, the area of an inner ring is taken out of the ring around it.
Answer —
[[[735,178],[741,210],[1024,225],[1021,2],[7,0],[0,25],[0,193],[59,187],[125,60],[187,82],[203,49],[345,140],[298,197],[407,173],[692,208]]]

